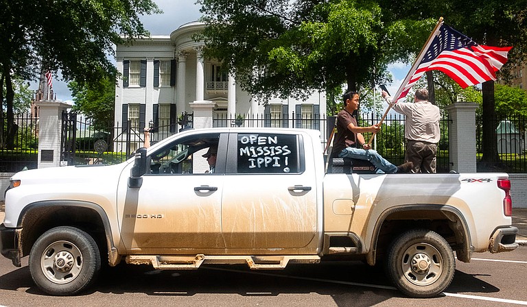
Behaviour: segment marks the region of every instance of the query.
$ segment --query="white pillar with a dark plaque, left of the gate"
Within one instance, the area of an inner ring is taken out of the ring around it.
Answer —
[[[38,120],[38,168],[60,167],[60,138],[62,112],[71,108],[62,101],[42,100],[36,103],[40,108]]]

